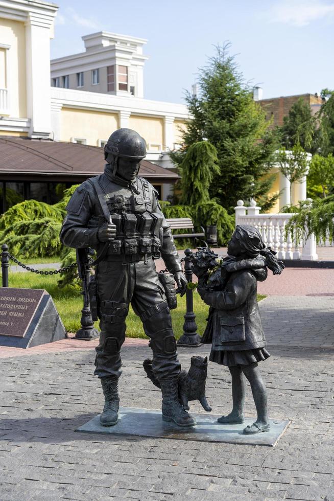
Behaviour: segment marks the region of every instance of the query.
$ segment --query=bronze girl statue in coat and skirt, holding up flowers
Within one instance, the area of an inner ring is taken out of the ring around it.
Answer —
[[[266,338],[257,306],[257,281],[266,280],[267,268],[277,275],[284,265],[275,259],[270,247],[265,248],[260,233],[253,226],[236,226],[227,253],[228,257],[214,273],[216,282],[212,276],[211,280],[208,275],[199,277],[198,292],[211,307],[202,343],[212,343],[209,359],[227,366],[232,377],[232,411],[219,418],[219,423],[244,421],[246,376],[257,419],[246,426],[244,433],[255,434],[270,430],[267,391],[258,368],[258,362],[266,360],[270,354],[265,348]],[[196,273],[196,257],[194,263]]]

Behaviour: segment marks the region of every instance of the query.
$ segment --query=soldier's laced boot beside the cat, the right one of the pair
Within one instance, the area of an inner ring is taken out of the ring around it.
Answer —
[[[195,426],[196,420],[184,410],[178,392],[178,380],[159,379],[162,393],[162,419],[178,426]]]

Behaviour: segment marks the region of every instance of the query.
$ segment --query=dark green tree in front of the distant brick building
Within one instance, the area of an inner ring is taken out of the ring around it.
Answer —
[[[282,145],[288,150],[292,149],[297,142],[297,130],[302,124],[311,121],[311,119],[311,107],[305,103],[303,98],[299,98],[298,101],[290,108],[289,115],[283,118],[283,125],[279,127]],[[301,132],[299,134],[298,143],[305,151],[314,153],[317,149],[316,137],[316,124],[314,124],[312,144],[306,144],[305,132]]]

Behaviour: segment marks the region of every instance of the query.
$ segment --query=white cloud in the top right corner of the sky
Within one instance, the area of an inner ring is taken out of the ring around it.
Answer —
[[[323,0],[278,0],[267,11],[266,17],[271,22],[282,22],[293,26],[307,26],[316,21],[334,15],[334,2]]]

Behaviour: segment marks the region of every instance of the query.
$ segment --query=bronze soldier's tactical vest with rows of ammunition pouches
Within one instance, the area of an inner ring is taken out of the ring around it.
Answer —
[[[108,255],[152,254],[154,259],[159,259],[163,216],[152,212],[148,181],[141,177],[138,180],[142,195],[124,196],[116,193],[111,197],[104,196],[112,222],[116,225],[116,237],[109,244]],[[100,216],[92,218],[90,225],[95,223],[94,225],[101,226],[104,222],[104,216]]]

